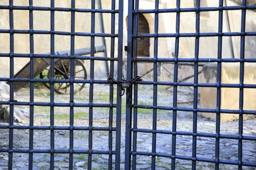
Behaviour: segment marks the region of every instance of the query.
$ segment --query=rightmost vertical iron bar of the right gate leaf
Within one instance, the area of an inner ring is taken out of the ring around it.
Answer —
[[[246,6],[247,0],[242,1],[242,6]],[[245,32],[246,9],[242,9],[241,15],[241,33]],[[241,35],[240,59],[244,59],[245,36]],[[239,140],[238,140],[238,169],[242,170],[243,157],[243,107],[244,107],[244,62],[240,62],[239,79]]]

